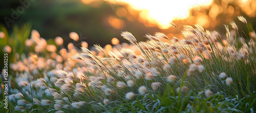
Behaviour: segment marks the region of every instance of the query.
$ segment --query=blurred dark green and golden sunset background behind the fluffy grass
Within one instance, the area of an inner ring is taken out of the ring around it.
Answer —
[[[0,9],[0,46],[9,45],[13,56],[26,50],[23,46],[33,29],[48,44],[54,44],[55,37],[59,36],[63,38],[65,48],[70,42],[80,47],[82,41],[86,41],[90,48],[93,44],[113,46],[115,43],[111,40],[114,37],[120,43],[127,42],[120,35],[122,31],[131,32],[138,41],[146,40],[145,34],[156,32],[164,33],[170,39],[173,36],[182,38],[178,30],[169,27],[170,21],[181,30],[183,25],[198,23],[221,34],[226,33],[223,24],[229,24],[231,20],[245,34],[253,33],[256,28],[254,0],[10,0],[1,1]],[[250,31],[237,19],[240,15],[247,19]],[[79,40],[72,40],[70,32],[76,32]]]

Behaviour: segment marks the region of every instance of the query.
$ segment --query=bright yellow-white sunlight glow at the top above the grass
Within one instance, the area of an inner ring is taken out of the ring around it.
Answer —
[[[121,0],[119,0],[121,1]],[[149,22],[157,22],[158,27],[166,29],[169,22],[175,18],[183,19],[189,15],[189,9],[198,5],[208,6],[212,0],[183,0],[183,1],[146,1],[129,0],[121,1],[130,4],[136,10],[141,12],[141,19],[147,19]],[[231,10],[231,9],[230,9]]]

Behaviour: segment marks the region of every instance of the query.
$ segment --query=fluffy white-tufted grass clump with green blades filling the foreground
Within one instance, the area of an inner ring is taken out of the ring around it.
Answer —
[[[255,44],[230,24],[226,37],[199,25],[184,26],[181,40],[156,33],[138,42],[125,31],[131,44],[94,51],[60,49],[32,31],[26,46],[34,51],[10,66],[11,112],[253,112]]]

